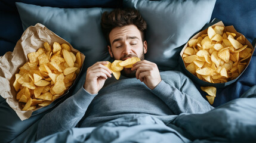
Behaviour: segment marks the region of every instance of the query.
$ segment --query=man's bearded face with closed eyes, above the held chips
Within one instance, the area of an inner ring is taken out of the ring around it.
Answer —
[[[126,60],[138,57],[144,60],[147,52],[147,42],[142,42],[141,32],[134,25],[116,27],[109,33],[110,45],[107,46],[109,54],[114,60]],[[135,71],[126,69],[121,71],[124,76],[135,77]]]

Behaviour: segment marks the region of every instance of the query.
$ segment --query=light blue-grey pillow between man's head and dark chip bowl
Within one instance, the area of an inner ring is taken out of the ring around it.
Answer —
[[[145,58],[158,64],[160,70],[173,70],[184,43],[211,19],[215,0],[124,0],[123,5],[140,11],[148,24]]]

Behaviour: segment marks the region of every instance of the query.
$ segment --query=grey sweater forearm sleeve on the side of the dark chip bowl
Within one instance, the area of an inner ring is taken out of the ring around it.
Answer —
[[[212,110],[212,107],[196,89],[189,79],[181,77],[180,84],[175,87],[162,80],[153,94],[161,98],[174,114],[181,113],[205,113]]]

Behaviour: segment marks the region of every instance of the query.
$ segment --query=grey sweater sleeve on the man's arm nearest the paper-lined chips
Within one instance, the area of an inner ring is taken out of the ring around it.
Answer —
[[[95,96],[81,88],[53,111],[45,114],[38,125],[37,139],[75,127]]]

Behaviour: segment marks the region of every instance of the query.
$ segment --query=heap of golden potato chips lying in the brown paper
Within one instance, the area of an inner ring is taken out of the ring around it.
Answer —
[[[63,95],[82,66],[80,52],[73,54],[66,43],[54,42],[52,48],[45,42],[44,48],[30,52],[27,58],[13,83],[23,111],[47,106]]]

